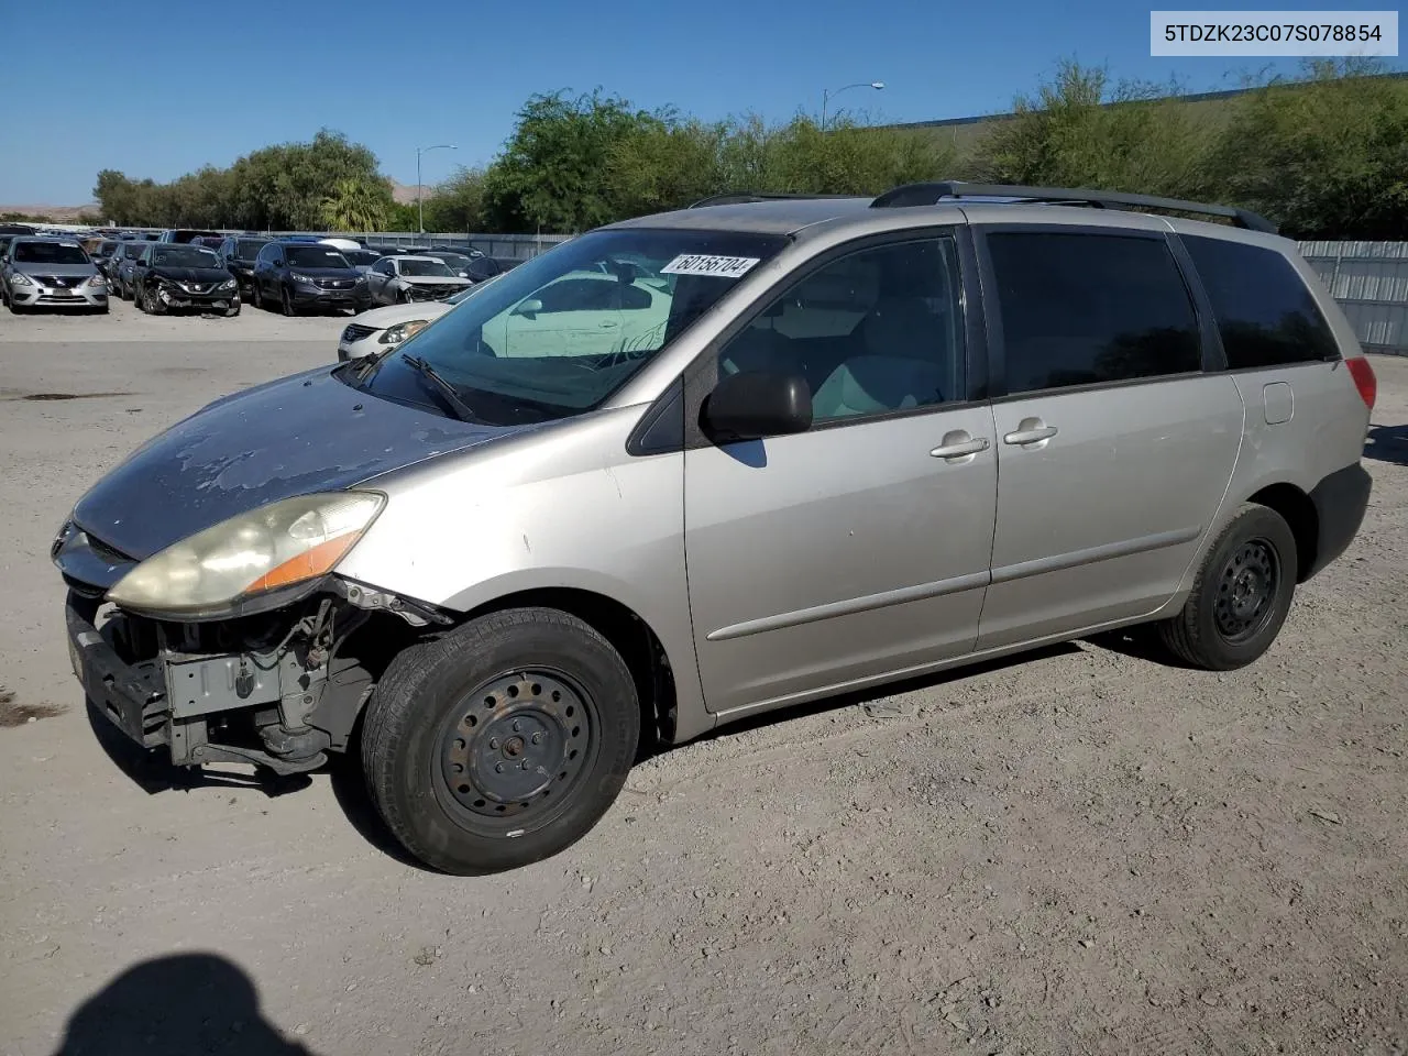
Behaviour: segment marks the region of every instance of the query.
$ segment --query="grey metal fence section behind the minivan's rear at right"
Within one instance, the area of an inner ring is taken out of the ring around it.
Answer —
[[[1366,352],[1408,356],[1408,242],[1301,242]]]

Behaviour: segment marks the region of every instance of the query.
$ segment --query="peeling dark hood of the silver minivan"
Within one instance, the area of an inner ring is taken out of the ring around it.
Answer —
[[[522,427],[459,422],[349,389],[318,367],[197,411],[103,477],[73,511],[141,560],[280,498],[360,484]]]

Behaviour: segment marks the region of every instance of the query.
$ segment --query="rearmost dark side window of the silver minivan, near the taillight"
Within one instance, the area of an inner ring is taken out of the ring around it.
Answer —
[[[1339,358],[1315,297],[1278,252],[1221,238],[1183,244],[1212,303],[1229,369]]]

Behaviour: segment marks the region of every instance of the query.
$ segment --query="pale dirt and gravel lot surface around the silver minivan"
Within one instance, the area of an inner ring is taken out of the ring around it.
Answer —
[[[341,325],[0,314],[0,1056],[1408,1048],[1408,360],[1359,539],[1250,669],[1081,642],[770,717],[465,880],[346,770],[138,783],[69,673],[70,504]]]

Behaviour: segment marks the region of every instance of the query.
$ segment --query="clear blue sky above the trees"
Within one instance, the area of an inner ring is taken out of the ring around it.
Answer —
[[[1063,56],[1195,92],[1262,66],[1150,58],[1149,6],[1129,0],[0,0],[0,39],[8,204],[76,204],[103,168],[168,180],[320,127],[401,183],[417,145],[458,144],[424,159],[434,183],[493,158],[524,100],[556,89],[786,120],[883,80],[838,104],[922,121],[1008,110]]]

